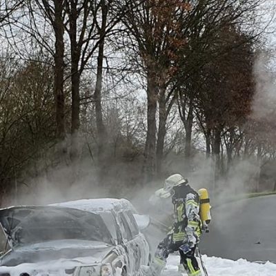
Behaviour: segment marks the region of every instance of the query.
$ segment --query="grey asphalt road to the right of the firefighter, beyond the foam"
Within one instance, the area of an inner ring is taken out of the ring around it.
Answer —
[[[243,199],[212,210],[201,253],[227,259],[276,262],[276,195]]]

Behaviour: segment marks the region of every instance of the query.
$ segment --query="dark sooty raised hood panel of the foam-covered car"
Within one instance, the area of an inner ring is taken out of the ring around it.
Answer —
[[[62,239],[112,244],[103,219],[95,213],[57,206],[0,209],[0,224],[11,248]]]

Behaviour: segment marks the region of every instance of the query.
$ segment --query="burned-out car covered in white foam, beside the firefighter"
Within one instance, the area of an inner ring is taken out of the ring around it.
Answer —
[[[149,262],[137,221],[140,228],[149,222],[126,199],[1,209],[10,250],[0,258],[0,276],[137,275]]]

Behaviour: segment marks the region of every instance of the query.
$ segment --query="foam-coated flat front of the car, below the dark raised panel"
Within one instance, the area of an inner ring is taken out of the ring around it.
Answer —
[[[0,259],[0,266],[19,266],[20,264],[43,263],[58,264],[59,267],[96,265],[114,248],[101,242],[83,240],[57,240],[41,242],[30,246],[19,246],[10,250]]]

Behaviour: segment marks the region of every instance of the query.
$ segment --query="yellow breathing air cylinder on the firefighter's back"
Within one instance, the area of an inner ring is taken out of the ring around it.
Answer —
[[[200,218],[203,224],[204,230],[209,232],[208,224],[211,222],[211,214],[210,214],[210,199],[208,195],[208,190],[202,188],[198,190],[199,201],[200,201]]]

